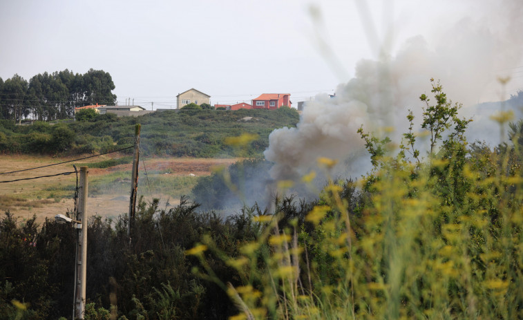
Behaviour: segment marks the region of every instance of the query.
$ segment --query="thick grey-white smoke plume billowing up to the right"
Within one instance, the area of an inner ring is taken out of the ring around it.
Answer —
[[[423,107],[419,95],[430,95],[430,78],[441,81],[453,102],[464,104],[463,115],[475,115],[473,105],[479,101],[508,98],[501,95],[497,77],[513,75],[521,66],[523,6],[519,1],[475,6],[474,16],[464,17],[450,28],[435,21],[435,39],[419,35],[406,41],[395,55],[381,61],[361,60],[355,77],[338,86],[336,98],[318,95],[307,102],[296,128],[277,129],[269,135],[264,154],[275,162],[272,178],[303,176],[316,167],[318,157],[340,160],[338,174],[357,177],[365,173],[370,164],[356,130],[363,124],[365,131],[379,135],[387,131],[398,140],[408,128],[408,109],[419,122]],[[469,140],[491,138],[486,126],[499,132],[485,114],[494,112],[484,110],[475,116]]]

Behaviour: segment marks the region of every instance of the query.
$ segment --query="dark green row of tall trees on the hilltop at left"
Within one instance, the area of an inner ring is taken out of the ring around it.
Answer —
[[[49,121],[72,118],[75,108],[89,104],[115,104],[115,84],[104,70],[72,70],[38,74],[29,81],[13,75],[0,78],[0,119]]]

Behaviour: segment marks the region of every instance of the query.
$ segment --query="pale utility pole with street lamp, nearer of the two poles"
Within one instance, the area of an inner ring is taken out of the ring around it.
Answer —
[[[79,197],[77,220],[82,222],[82,229],[78,234],[78,247],[76,255],[76,279],[75,279],[75,314],[77,319],[84,319],[86,303],[86,279],[87,279],[87,167],[80,167]]]

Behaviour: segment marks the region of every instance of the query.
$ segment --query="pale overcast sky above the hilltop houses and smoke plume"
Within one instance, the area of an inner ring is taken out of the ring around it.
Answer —
[[[334,93],[379,47],[394,55],[415,35],[430,43],[488,2],[4,0],[0,77],[104,70],[119,104],[130,97],[148,109],[175,108],[189,88],[212,104],[261,93],[291,93],[295,103]],[[508,93],[523,87],[521,66],[509,66]]]

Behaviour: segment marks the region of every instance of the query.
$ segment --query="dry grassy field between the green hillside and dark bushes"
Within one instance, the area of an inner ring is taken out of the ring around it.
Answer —
[[[79,157],[82,158],[82,157]],[[45,156],[2,156],[0,172],[16,171],[72,160]],[[89,161],[91,160],[91,161]],[[180,196],[191,194],[198,177],[211,174],[213,167],[228,166],[236,159],[142,158],[139,167],[138,196],[146,201],[160,198],[162,205],[175,205]],[[117,216],[129,210],[131,193],[131,158],[100,156],[81,162],[21,171],[0,176],[0,181],[46,176],[88,169],[88,214]],[[21,218],[37,215],[39,221],[64,214],[74,208],[76,177],[55,176],[36,180],[0,183],[0,211],[10,211]]]

